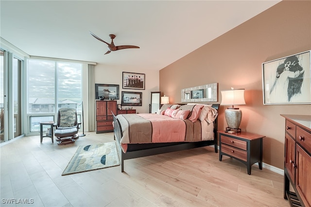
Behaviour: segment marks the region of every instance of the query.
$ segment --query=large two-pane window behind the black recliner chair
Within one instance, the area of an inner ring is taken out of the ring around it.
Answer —
[[[61,107],[76,108],[80,119],[82,65],[76,62],[28,59],[29,133],[38,132],[41,121],[55,121]]]

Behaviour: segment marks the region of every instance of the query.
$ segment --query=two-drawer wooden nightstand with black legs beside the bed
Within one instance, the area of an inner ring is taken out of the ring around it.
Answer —
[[[223,155],[239,160],[247,166],[247,174],[251,174],[251,166],[258,162],[262,170],[262,138],[265,136],[249,132],[229,133],[219,131],[219,161]]]

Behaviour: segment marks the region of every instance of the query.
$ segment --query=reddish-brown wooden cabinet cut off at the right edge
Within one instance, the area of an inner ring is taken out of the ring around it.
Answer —
[[[291,206],[311,207],[311,116],[281,116],[285,118],[284,198]]]

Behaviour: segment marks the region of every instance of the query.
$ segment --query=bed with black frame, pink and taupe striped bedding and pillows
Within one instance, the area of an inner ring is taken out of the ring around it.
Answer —
[[[219,104],[165,104],[156,114],[113,115],[121,172],[126,159],[209,145],[218,153],[218,108]]]

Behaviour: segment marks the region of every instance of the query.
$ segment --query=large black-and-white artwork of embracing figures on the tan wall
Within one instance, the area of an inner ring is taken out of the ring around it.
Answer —
[[[262,63],[263,104],[311,104],[310,52]]]

